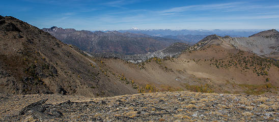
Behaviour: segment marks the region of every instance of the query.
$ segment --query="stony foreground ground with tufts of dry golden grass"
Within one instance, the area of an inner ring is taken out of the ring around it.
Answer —
[[[163,92],[85,98],[0,94],[1,121],[279,121],[278,96]]]

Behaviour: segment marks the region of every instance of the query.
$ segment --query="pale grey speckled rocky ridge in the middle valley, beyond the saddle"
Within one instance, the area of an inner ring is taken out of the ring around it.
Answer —
[[[184,50],[189,48],[189,45],[185,43],[174,43],[171,46],[155,51],[148,52],[146,54],[135,54],[135,55],[123,55],[116,53],[91,53],[95,57],[104,58],[119,58],[124,59],[131,63],[141,63],[153,57],[164,58],[164,57],[178,57]]]

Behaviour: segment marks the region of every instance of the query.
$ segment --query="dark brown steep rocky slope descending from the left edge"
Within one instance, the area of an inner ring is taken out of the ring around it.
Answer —
[[[0,45],[2,92],[91,97],[136,93],[131,86],[101,73],[98,63],[81,50],[14,17],[0,16]]]

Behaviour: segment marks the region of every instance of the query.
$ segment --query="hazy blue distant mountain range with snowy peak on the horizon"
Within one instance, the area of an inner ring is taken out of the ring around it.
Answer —
[[[150,36],[164,37],[164,36],[178,36],[178,35],[219,35],[219,36],[231,36],[231,37],[248,37],[250,35],[259,33],[263,31],[262,29],[243,29],[243,30],[221,30],[221,29],[213,29],[213,30],[191,30],[191,29],[181,29],[181,30],[171,30],[171,29],[132,29],[128,30],[119,30],[118,32],[129,32],[129,33],[140,33],[146,34]]]

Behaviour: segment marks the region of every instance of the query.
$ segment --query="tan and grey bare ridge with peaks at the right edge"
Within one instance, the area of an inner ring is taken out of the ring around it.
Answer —
[[[243,51],[253,52],[260,56],[279,59],[279,33],[275,29],[263,31],[248,38],[232,38],[210,35],[188,50],[197,50],[205,45],[217,44],[225,48],[236,48]]]

